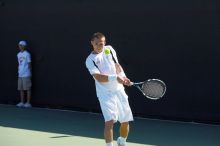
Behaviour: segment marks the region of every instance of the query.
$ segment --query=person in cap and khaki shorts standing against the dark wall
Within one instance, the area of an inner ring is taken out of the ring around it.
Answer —
[[[20,91],[20,102],[18,107],[30,108],[31,106],[31,55],[26,50],[27,42],[20,41],[18,43],[20,52],[18,58],[18,90]],[[25,102],[25,91],[27,92],[27,100]]]

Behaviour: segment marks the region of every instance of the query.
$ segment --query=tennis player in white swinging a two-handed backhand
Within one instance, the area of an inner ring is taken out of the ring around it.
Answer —
[[[94,33],[91,44],[93,50],[86,59],[86,67],[95,80],[96,94],[105,120],[106,146],[113,146],[113,126],[117,121],[121,123],[117,143],[118,146],[125,146],[133,115],[123,85],[130,86],[131,82],[119,64],[115,50],[105,46],[102,33]]]

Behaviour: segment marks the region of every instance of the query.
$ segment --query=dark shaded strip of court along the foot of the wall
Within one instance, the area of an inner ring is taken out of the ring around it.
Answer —
[[[0,105],[0,126],[103,139],[100,114]],[[119,124],[114,129],[118,136]],[[1,132],[1,131],[0,131]],[[220,126],[135,118],[128,142],[150,146],[219,146]],[[135,144],[134,144],[135,146]]]

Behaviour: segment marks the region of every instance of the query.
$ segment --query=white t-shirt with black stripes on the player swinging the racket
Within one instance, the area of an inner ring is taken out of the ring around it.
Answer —
[[[86,67],[88,68],[91,75],[116,75],[115,62],[113,61],[111,53],[104,53],[105,49],[111,50],[116,62],[118,63],[115,50],[111,46],[104,46],[103,51],[101,53],[91,53],[86,59]],[[117,80],[109,82],[98,82],[95,79],[95,84],[96,94],[98,97],[106,97],[106,94],[108,94],[109,92],[116,92],[118,90],[124,89],[124,86],[118,83]]]

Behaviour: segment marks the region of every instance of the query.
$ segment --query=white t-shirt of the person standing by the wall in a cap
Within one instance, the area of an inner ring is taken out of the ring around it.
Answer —
[[[31,62],[31,55],[26,50],[19,52],[18,55],[18,77],[30,77],[31,70],[28,64]]]

